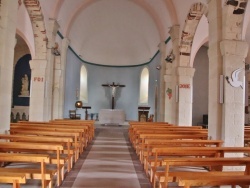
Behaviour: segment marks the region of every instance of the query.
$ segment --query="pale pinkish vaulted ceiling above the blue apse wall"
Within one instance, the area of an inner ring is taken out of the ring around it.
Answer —
[[[70,47],[77,55],[87,62],[110,66],[131,66],[149,62],[158,51],[159,43],[169,37],[171,26],[180,25],[180,33],[182,32],[192,4],[207,4],[207,0],[39,2],[46,28],[49,19],[57,20],[60,25],[59,32],[70,40]],[[248,24],[248,20],[244,22]],[[206,19],[201,22],[208,24]],[[202,29],[200,30],[203,38],[208,38],[208,32],[205,32],[205,36]]]

